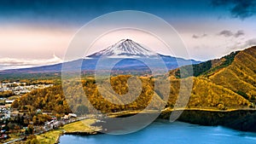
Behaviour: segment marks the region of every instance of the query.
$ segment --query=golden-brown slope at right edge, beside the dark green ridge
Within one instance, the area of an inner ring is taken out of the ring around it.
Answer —
[[[256,47],[239,52],[230,66],[212,74],[214,84],[231,89],[247,100],[256,98]]]

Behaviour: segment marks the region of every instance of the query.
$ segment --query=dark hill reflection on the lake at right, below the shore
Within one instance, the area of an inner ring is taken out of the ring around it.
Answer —
[[[160,118],[170,118],[172,112],[162,112]],[[256,132],[255,109],[228,111],[184,110],[177,121],[206,126],[224,126],[234,130]]]

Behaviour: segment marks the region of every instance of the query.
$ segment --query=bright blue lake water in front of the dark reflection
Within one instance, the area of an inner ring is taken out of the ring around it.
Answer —
[[[158,120],[128,135],[62,135],[61,144],[256,144],[256,133]]]

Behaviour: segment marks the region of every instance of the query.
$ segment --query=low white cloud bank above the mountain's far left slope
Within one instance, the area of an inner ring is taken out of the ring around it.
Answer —
[[[61,58],[55,55],[53,55],[53,57],[50,59],[39,59],[39,60],[0,58],[0,70],[52,65],[52,64],[61,63],[61,62],[62,62]]]

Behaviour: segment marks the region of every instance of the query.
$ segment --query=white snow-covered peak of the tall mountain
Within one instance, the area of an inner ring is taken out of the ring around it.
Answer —
[[[118,43],[111,45],[107,49],[103,49],[93,55],[89,55],[88,57],[151,57],[156,55],[158,54],[143,48],[141,44],[136,43],[131,39],[122,39]]]

